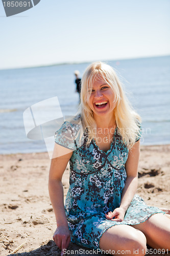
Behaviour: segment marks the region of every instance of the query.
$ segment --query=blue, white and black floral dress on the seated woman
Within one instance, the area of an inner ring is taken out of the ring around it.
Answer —
[[[73,151],[70,158],[69,189],[65,212],[71,241],[89,248],[100,248],[100,238],[115,225],[135,225],[159,212],[135,195],[122,222],[107,220],[105,214],[119,207],[126,183],[125,163],[128,148],[115,130],[110,150],[106,153],[92,140],[86,146],[86,135],[78,136],[79,124],[64,122],[55,134],[55,142]],[[137,140],[140,139],[138,136]],[[137,141],[136,140],[136,141]]]

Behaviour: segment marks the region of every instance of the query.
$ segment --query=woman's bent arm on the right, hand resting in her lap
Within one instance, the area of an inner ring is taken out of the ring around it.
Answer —
[[[127,180],[122,193],[122,199],[120,202],[120,207],[116,208],[113,212],[109,212],[106,215],[108,220],[114,217],[114,221],[123,221],[125,213],[136,193],[137,189],[137,173],[138,173],[138,163],[140,155],[140,140],[138,140],[129,152],[128,159],[125,164],[125,169],[127,172]]]

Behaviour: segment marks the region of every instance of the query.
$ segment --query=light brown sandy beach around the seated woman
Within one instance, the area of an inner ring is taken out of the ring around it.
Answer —
[[[48,196],[50,162],[47,153],[0,156],[0,255],[60,255],[52,241],[56,221]],[[170,145],[141,146],[137,194],[148,205],[170,208],[169,165]],[[62,180],[64,196],[68,180],[69,165]],[[80,254],[80,247],[70,243],[68,250],[76,249],[74,255],[93,255],[87,248]]]

